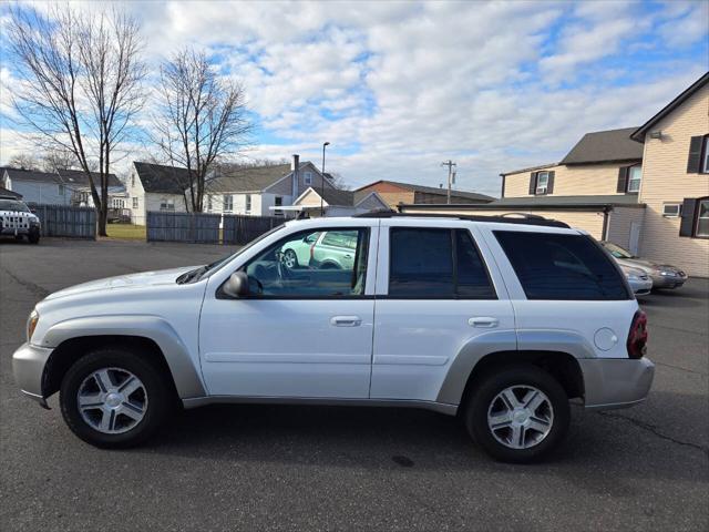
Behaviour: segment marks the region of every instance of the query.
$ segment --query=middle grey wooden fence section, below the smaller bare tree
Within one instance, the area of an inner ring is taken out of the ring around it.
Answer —
[[[218,214],[148,211],[147,242],[219,244],[220,218]]]

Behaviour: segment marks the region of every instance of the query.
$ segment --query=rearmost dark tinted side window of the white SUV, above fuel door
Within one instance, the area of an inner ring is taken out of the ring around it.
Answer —
[[[494,233],[527,299],[630,298],[612,258],[586,235],[514,231]]]

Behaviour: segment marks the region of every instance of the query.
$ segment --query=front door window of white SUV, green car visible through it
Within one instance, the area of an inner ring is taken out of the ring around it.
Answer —
[[[306,231],[251,259],[251,297],[352,297],[364,294],[369,229]]]

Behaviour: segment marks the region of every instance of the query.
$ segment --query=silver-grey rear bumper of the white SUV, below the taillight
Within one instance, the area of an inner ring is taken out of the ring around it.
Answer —
[[[655,365],[647,358],[578,359],[584,374],[584,402],[589,409],[625,408],[647,398]]]

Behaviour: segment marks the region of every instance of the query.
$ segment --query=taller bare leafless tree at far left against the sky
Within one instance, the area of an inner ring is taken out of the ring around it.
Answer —
[[[119,11],[86,14],[56,6],[48,14],[31,8],[10,13],[14,109],[40,147],[73,154],[105,235],[112,155],[144,101],[138,23]]]

